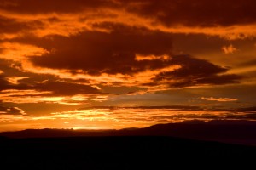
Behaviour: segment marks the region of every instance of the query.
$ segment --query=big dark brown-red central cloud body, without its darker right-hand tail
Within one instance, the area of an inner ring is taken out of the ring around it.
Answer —
[[[69,70],[83,70],[91,75],[133,74],[170,65],[155,59],[137,61],[136,54],[163,55],[172,49],[172,37],[160,31],[116,26],[111,33],[85,31],[73,37],[45,39],[43,48],[53,52],[42,57],[31,57],[34,65]],[[121,30],[121,31],[120,31]],[[75,73],[75,72],[74,72]]]

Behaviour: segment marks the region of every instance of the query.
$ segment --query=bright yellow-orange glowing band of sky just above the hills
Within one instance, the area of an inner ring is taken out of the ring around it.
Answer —
[[[121,129],[191,120],[251,120],[252,112],[188,111],[168,108],[104,108],[62,111],[49,116],[2,116],[1,131],[27,128]],[[243,118],[244,117],[244,118]]]

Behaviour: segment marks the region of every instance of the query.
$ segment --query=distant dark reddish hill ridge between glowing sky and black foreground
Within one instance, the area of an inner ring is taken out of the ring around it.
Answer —
[[[187,121],[121,130],[27,129],[17,132],[0,133],[0,136],[15,139],[93,136],[168,136],[183,139],[218,141],[229,144],[256,145],[256,122]]]

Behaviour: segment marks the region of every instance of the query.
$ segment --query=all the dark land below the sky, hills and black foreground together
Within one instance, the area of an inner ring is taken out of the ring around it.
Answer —
[[[5,169],[176,169],[204,163],[245,168],[255,162],[255,132],[255,122],[241,121],[119,131],[26,130],[0,134],[0,160]]]

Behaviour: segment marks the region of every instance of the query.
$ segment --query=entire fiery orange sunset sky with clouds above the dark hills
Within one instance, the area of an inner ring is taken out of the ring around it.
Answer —
[[[0,0],[0,131],[256,119],[254,0]]]

